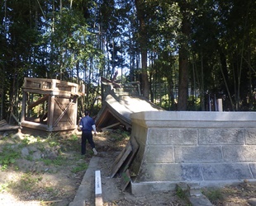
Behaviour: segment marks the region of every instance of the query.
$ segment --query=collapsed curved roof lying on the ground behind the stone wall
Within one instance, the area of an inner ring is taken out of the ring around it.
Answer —
[[[146,110],[163,110],[140,93],[140,82],[119,83],[102,77],[104,99],[96,118],[98,130],[131,129],[130,115]]]

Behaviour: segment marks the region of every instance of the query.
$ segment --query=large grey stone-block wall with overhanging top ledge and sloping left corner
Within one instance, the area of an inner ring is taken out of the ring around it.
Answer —
[[[256,113],[149,111],[135,113],[139,144],[130,171],[132,193],[256,180]]]

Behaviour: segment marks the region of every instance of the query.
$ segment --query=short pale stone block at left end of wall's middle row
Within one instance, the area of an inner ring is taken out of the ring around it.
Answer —
[[[145,149],[145,160],[147,163],[173,163],[173,146],[149,145]]]

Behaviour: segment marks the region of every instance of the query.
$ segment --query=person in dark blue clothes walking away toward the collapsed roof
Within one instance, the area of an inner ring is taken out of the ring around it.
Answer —
[[[96,126],[95,121],[90,117],[90,113],[88,110],[84,112],[84,117],[79,122],[79,130],[82,130],[82,142],[81,142],[81,154],[85,155],[86,153],[86,141],[88,140],[88,143],[90,143],[92,147],[92,151],[94,152],[94,155],[97,155],[97,150],[95,149],[95,143],[92,139],[92,130],[94,131],[94,134],[96,135]]]

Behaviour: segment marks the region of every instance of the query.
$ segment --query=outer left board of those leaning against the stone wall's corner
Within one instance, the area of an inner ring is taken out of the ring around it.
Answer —
[[[126,147],[121,151],[121,153],[116,157],[116,161],[113,163],[111,170],[111,178],[116,175],[116,172],[121,168],[126,158],[130,155],[132,147],[130,141],[126,144]]]

